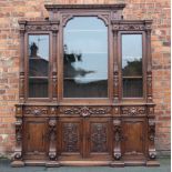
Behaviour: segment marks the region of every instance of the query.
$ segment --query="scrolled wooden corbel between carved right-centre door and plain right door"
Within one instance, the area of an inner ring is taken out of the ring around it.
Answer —
[[[113,120],[113,141],[114,141],[113,158],[114,160],[120,160],[122,156],[121,138],[122,138],[121,121]]]

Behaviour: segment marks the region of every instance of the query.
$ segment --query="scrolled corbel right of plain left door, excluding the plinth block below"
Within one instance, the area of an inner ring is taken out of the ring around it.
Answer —
[[[49,136],[50,136],[49,159],[51,161],[55,161],[57,160],[57,149],[55,149],[57,120],[55,119],[50,119],[49,121]]]

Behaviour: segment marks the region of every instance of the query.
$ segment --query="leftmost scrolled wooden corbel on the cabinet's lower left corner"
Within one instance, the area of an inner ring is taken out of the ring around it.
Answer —
[[[22,119],[17,118],[16,122],[16,149],[13,160],[22,160]]]

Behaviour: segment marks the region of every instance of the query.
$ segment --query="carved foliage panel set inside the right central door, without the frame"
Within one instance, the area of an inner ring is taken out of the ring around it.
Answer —
[[[107,148],[107,124],[93,123],[91,124],[91,142],[92,152],[105,152]]]

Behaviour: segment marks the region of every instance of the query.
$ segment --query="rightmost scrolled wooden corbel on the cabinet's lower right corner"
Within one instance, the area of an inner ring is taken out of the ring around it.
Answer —
[[[149,119],[149,156],[152,160],[156,158],[154,139],[155,139],[155,121],[154,119]]]

